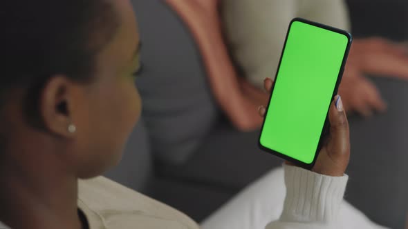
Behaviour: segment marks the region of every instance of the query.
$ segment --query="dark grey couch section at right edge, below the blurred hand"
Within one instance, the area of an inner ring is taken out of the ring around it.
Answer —
[[[350,116],[351,160],[346,199],[376,223],[403,228],[408,212],[408,82],[373,78],[388,110]]]

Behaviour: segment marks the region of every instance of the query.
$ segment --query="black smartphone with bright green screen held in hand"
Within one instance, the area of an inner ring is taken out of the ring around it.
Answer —
[[[351,42],[344,30],[300,18],[290,22],[259,136],[262,150],[313,167]]]

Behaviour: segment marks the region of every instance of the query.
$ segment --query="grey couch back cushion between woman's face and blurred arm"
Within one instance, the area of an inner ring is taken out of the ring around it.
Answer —
[[[189,30],[161,0],[133,0],[144,70],[137,80],[156,159],[180,163],[212,129],[218,111]]]

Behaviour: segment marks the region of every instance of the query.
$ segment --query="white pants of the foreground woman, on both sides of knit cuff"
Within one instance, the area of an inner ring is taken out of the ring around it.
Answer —
[[[272,170],[205,219],[201,228],[263,229],[270,221],[279,219],[285,194],[284,170]],[[340,209],[339,228],[382,227],[344,201]]]

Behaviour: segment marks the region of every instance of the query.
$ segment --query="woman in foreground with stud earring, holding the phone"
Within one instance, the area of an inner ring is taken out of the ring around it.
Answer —
[[[133,83],[140,41],[129,0],[6,1],[3,8],[1,224],[15,229],[198,228],[177,210],[97,177],[118,163],[140,115]],[[265,86],[270,90],[272,81],[266,79]],[[340,97],[329,116],[331,137],[313,172],[284,166],[284,213],[266,228],[335,227],[349,161]],[[211,224],[216,217],[207,226],[217,228]],[[357,218],[365,223],[360,226],[370,225]]]

